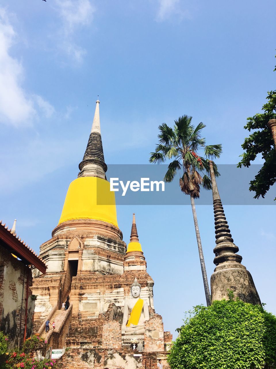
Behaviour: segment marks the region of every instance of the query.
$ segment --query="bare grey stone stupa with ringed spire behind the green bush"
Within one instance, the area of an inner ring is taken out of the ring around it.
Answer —
[[[216,268],[211,276],[211,295],[213,300],[228,298],[230,289],[236,297],[251,304],[261,304],[258,292],[251,274],[241,264],[242,257],[238,252],[238,246],[234,244],[213,170],[213,162],[209,161],[210,177],[212,182],[213,206],[215,214],[216,246],[214,248]]]

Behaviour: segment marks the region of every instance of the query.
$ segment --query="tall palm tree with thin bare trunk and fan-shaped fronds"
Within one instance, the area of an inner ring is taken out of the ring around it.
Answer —
[[[159,125],[159,144],[156,145],[155,152],[151,153],[149,162],[160,164],[167,159],[174,158],[169,163],[168,170],[164,176],[165,182],[172,182],[177,171],[183,169],[183,175],[179,179],[179,184],[181,191],[190,195],[191,198],[206,303],[209,306],[210,291],[198,228],[197,212],[195,210],[195,199],[199,198],[200,186],[206,190],[212,189],[208,159],[219,158],[222,152],[222,145],[205,145],[205,138],[201,138],[201,131],[206,126],[201,122],[194,128],[191,121],[192,117],[183,115],[174,121],[175,125],[173,128],[170,128],[166,123]],[[199,155],[199,150],[203,150],[204,156]],[[215,164],[214,172],[216,177],[219,176]]]

